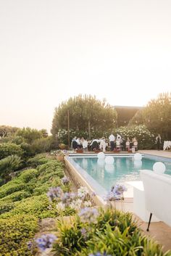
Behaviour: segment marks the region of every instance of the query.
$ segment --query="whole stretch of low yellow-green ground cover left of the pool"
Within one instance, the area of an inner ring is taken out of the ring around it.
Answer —
[[[64,177],[62,162],[51,158],[36,156],[30,160],[34,168],[28,161],[28,169],[17,172],[12,181],[0,186],[1,256],[34,255],[28,250],[27,242],[38,231],[38,220],[59,215],[56,205],[49,207],[46,193],[51,186],[62,186],[68,191],[70,185],[61,181]],[[68,214],[72,212],[64,212]]]

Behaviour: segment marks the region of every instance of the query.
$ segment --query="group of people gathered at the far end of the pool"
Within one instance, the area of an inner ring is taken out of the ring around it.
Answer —
[[[105,152],[107,148],[109,148],[110,151],[114,151],[114,149],[129,151],[131,148],[136,151],[138,149],[138,141],[136,138],[133,138],[133,140],[130,141],[129,137],[125,140],[120,134],[117,134],[115,137],[113,133],[111,133],[108,140],[102,137],[101,139],[92,139],[92,141],[88,141],[88,139],[84,139],[83,137],[80,139],[75,136],[72,139],[71,146],[74,150],[83,149],[83,151],[101,150]]]

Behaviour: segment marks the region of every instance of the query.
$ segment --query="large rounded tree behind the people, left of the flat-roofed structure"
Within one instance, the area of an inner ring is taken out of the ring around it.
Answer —
[[[76,131],[88,131],[89,138],[91,138],[91,129],[107,131],[116,125],[117,112],[114,107],[105,100],[99,101],[96,96],[78,95],[56,107],[51,128],[54,136],[57,136],[59,129],[67,129],[68,111],[70,128]]]

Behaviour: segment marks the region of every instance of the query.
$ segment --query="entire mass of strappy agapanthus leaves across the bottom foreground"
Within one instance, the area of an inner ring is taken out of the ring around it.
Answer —
[[[143,236],[129,212],[100,210],[96,223],[83,223],[78,216],[57,223],[54,255],[160,255],[162,247]]]

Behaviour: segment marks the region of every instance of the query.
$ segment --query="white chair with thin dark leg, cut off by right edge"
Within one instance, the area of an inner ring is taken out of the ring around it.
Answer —
[[[149,231],[152,214],[171,226],[171,176],[155,173],[152,170],[141,170],[140,173],[145,193],[146,210],[151,212],[147,231]]]

